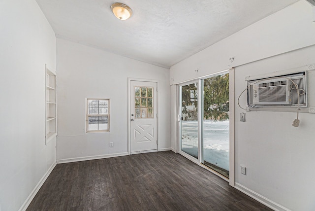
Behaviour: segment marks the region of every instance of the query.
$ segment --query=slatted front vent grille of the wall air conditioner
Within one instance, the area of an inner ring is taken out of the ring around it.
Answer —
[[[286,101],[286,86],[270,86],[270,87],[259,88],[259,102],[260,103],[285,102],[285,101]]]

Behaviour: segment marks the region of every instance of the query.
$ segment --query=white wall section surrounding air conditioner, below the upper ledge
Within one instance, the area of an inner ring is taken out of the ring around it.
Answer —
[[[315,46],[235,68],[235,99],[246,88],[245,77],[315,63]],[[315,106],[315,77],[308,79],[311,105]],[[240,98],[246,105],[246,94]],[[235,181],[292,211],[315,210],[315,114],[296,112],[246,112],[246,122],[235,104]],[[247,168],[241,174],[240,165]],[[242,188],[242,187],[241,187]]]

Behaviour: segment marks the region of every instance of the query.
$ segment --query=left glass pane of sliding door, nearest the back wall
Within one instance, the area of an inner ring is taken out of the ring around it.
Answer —
[[[181,150],[198,158],[197,83],[181,86]]]

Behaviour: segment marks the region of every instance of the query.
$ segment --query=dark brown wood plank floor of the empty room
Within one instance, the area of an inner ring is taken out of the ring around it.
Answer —
[[[270,211],[174,152],[58,164],[27,211]]]

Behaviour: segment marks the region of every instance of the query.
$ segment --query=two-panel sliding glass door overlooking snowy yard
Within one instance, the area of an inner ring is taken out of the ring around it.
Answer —
[[[181,151],[228,178],[228,72],[180,86],[180,120]]]

